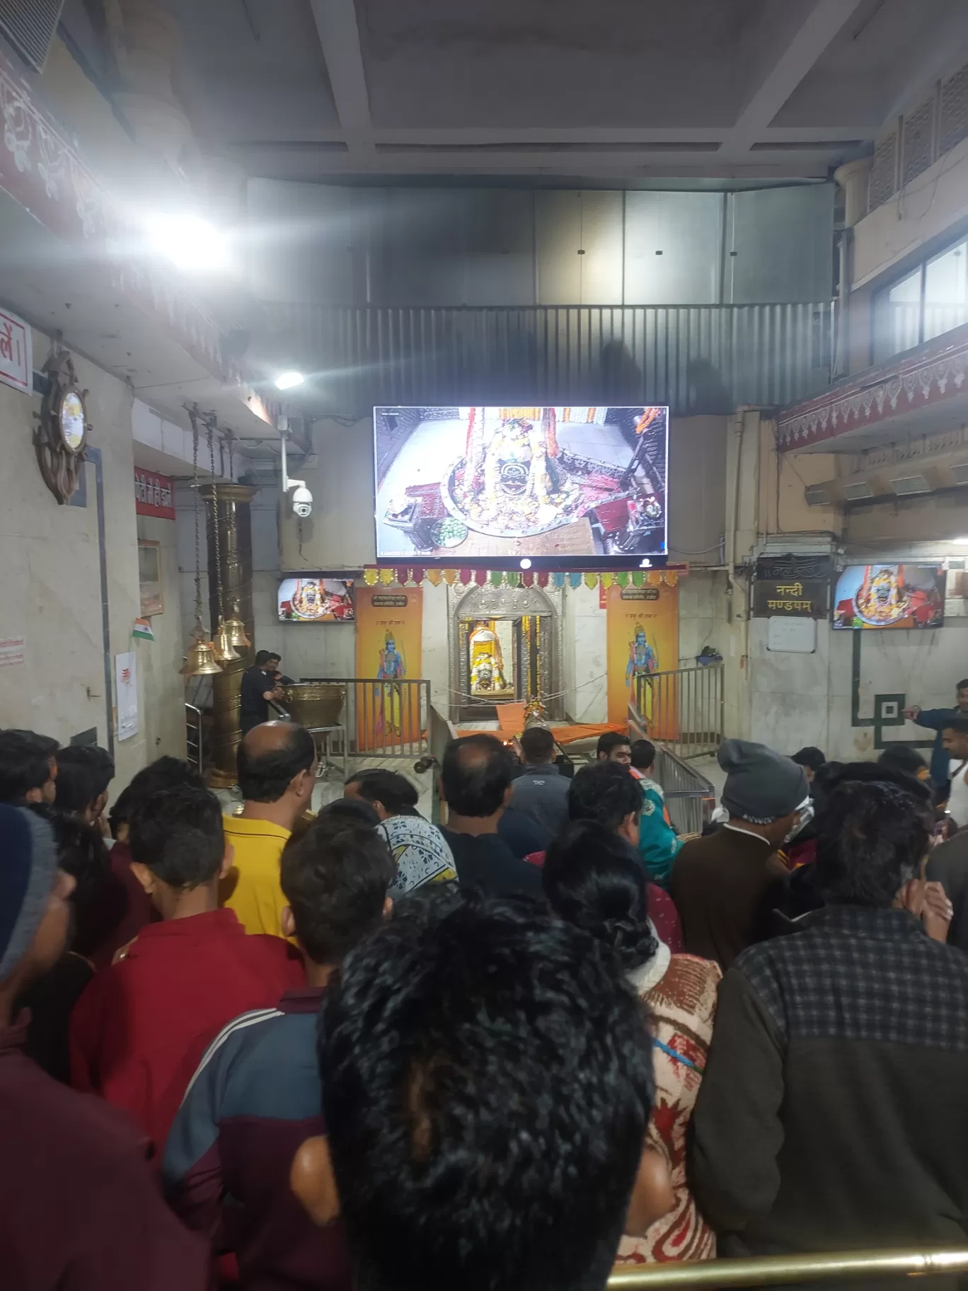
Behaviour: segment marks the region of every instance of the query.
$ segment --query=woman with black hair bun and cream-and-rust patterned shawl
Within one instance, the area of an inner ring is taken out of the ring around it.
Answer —
[[[675,1205],[644,1237],[623,1237],[618,1260],[711,1260],[716,1239],[685,1180],[685,1133],[712,1035],[719,966],[674,955],[658,940],[641,868],[623,840],[596,821],[574,821],[564,830],[547,851],[541,878],[554,913],[610,948],[652,1016],[649,1141],[669,1161]]]

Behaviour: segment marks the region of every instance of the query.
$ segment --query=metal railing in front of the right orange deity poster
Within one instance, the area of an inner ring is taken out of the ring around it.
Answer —
[[[680,758],[703,758],[723,742],[723,665],[679,667],[635,678],[645,738]]]

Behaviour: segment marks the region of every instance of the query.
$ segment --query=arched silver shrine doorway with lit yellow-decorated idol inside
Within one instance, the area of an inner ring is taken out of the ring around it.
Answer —
[[[497,720],[497,706],[541,698],[560,718],[560,612],[539,587],[474,587],[453,611],[452,689],[458,722]]]

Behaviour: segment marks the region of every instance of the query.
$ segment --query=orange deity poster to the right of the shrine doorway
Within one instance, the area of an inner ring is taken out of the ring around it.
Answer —
[[[679,587],[613,585],[607,595],[608,720],[625,722],[638,691],[649,735],[674,740],[679,735],[675,688],[650,678],[679,667]]]

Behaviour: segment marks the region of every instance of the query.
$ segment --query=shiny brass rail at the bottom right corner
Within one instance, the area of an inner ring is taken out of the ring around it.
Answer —
[[[761,1255],[747,1260],[685,1260],[616,1268],[609,1291],[656,1291],[658,1287],[765,1287],[791,1282],[853,1278],[924,1277],[968,1272],[968,1250],[823,1251],[808,1255]]]

